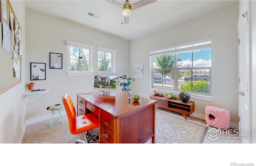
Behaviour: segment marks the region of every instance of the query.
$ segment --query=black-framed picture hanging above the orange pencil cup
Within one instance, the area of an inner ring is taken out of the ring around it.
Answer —
[[[46,64],[30,62],[30,80],[46,79]]]

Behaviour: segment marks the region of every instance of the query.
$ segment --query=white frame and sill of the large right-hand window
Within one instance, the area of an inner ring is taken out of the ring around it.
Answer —
[[[200,44],[204,44],[203,46]],[[199,45],[198,45],[199,44]],[[205,40],[201,40],[201,41],[195,41],[192,43],[186,43],[186,44],[182,44],[182,45],[176,45],[176,46],[171,46],[171,47],[165,47],[165,48],[161,48],[161,49],[155,49],[155,50],[151,50],[150,51],[150,70],[151,70],[151,74],[150,74],[150,91],[154,91],[154,90],[158,90],[159,92],[170,92],[173,93],[174,95],[178,96],[179,93],[181,91],[177,90],[177,87],[174,87],[174,90],[166,90],[166,89],[162,89],[162,88],[154,88],[153,87],[153,70],[154,70],[154,66],[153,66],[153,57],[157,56],[157,55],[166,55],[166,54],[174,54],[175,55],[175,66],[173,68],[174,70],[174,75],[176,78],[176,74],[178,72],[178,70],[194,70],[194,68],[178,68],[177,67],[177,55],[176,53],[178,52],[184,52],[184,51],[192,51],[192,50],[196,50],[196,49],[205,49],[205,48],[211,48],[211,39],[205,39]],[[208,67],[205,67],[208,68]],[[211,67],[210,68],[210,78],[211,78]],[[211,80],[211,79],[210,79]],[[178,80],[174,80],[174,82],[177,82]],[[177,86],[177,83],[174,83],[174,86]],[[199,94],[199,93],[193,93],[193,92],[189,92],[190,93],[190,97],[191,98],[195,98],[195,99],[200,99],[200,100],[206,100],[206,101],[213,101],[213,97],[211,96],[211,88],[212,86],[210,86],[210,94]]]

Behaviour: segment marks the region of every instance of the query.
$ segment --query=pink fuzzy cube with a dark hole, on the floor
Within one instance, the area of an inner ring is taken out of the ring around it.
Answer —
[[[229,129],[230,113],[226,108],[206,105],[205,120],[207,126],[213,126],[218,129]]]

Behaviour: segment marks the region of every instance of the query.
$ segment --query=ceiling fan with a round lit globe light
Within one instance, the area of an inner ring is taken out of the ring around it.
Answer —
[[[137,8],[140,8],[142,6],[145,6],[147,4],[151,4],[153,2],[156,2],[156,0],[140,0],[139,2],[136,2],[134,4],[130,4],[130,0],[124,0],[124,4],[120,4],[114,0],[107,0],[111,4],[114,4],[116,6],[119,6],[123,9],[122,14],[124,15],[124,23],[129,23],[129,17],[132,15],[132,10],[135,10]]]

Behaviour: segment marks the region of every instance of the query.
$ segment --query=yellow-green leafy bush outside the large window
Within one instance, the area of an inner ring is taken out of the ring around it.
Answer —
[[[209,94],[210,93],[210,85],[208,82],[205,82],[203,80],[198,80],[198,81],[193,81],[193,82],[186,81],[186,84],[182,84],[180,86],[180,90]]]

